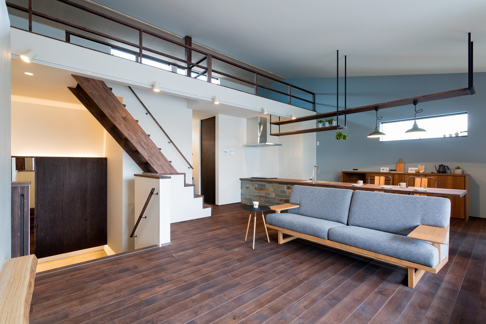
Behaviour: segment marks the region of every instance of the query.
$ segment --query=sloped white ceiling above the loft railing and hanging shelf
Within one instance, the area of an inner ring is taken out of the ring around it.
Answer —
[[[486,72],[486,0],[94,0],[286,78]],[[344,68],[340,69],[344,75]]]

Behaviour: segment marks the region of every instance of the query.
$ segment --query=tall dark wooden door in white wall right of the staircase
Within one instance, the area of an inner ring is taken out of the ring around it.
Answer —
[[[216,204],[216,117],[201,119],[201,194]]]

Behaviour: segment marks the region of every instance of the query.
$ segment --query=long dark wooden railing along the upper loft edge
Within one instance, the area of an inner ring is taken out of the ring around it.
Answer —
[[[47,2],[49,3],[46,4]],[[57,2],[57,8],[54,9],[55,6],[52,2]],[[223,86],[285,102],[300,108],[316,110],[315,93],[223,57],[199,50],[192,46],[192,40],[189,36],[185,37],[183,44],[157,32],[69,0],[28,0],[27,7],[12,2],[6,2],[6,5],[11,15],[28,20],[28,28],[17,28],[33,32],[33,25],[35,24],[53,27],[56,31],[60,30],[64,33],[61,40],[68,43],[81,45],[80,42],[82,41],[81,46],[91,49],[99,45],[106,46],[107,49],[122,50],[135,55],[135,61],[138,63],[143,63],[144,58],[154,60],[175,67],[176,71],[172,72],[177,73],[177,69],[184,69],[185,75],[191,78],[205,76],[207,82],[211,82],[213,77],[220,78],[225,81],[225,84],[222,84]],[[37,8],[38,10],[35,10]],[[73,10],[79,10],[80,12],[79,14],[73,14]],[[60,19],[59,16],[62,16],[64,13],[65,19]],[[54,14],[57,17],[54,17]],[[89,15],[91,16],[86,17]],[[83,21],[89,21],[90,26],[81,26],[81,23],[76,24],[77,20],[81,21],[79,17],[82,17]],[[95,21],[94,19],[101,20]],[[116,24],[119,28],[116,26],[107,28],[107,23],[108,25],[110,23]],[[98,25],[103,31],[93,29]],[[12,24],[12,27],[15,26]],[[43,28],[38,29],[38,31],[36,30],[38,34],[60,39],[60,37],[46,35],[41,30]],[[104,32],[106,30],[110,30],[112,34]],[[146,44],[144,44],[144,41],[146,41]],[[90,47],[87,43],[93,44],[93,46]],[[101,51],[108,53],[107,50]],[[179,56],[184,54],[184,58],[178,57],[176,54],[180,54]],[[196,57],[192,57],[193,55]],[[201,65],[203,62],[206,64]],[[195,75],[192,72],[195,72]]]

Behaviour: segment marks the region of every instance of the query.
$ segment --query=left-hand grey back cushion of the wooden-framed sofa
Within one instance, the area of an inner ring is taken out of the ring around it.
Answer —
[[[300,205],[292,214],[348,223],[352,190],[310,186],[294,186],[290,203]]]

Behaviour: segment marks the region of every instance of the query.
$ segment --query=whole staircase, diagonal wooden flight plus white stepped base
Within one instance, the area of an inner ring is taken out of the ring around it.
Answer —
[[[171,196],[178,197],[178,208],[171,211],[171,223],[208,217],[212,208],[196,195],[194,185],[186,184],[186,174],[179,173],[135,118],[111,92],[105,82],[72,75],[76,88],[68,87],[81,104],[101,123],[144,173],[169,175]],[[181,205],[181,199],[184,204]],[[174,214],[174,215],[172,215]]]

